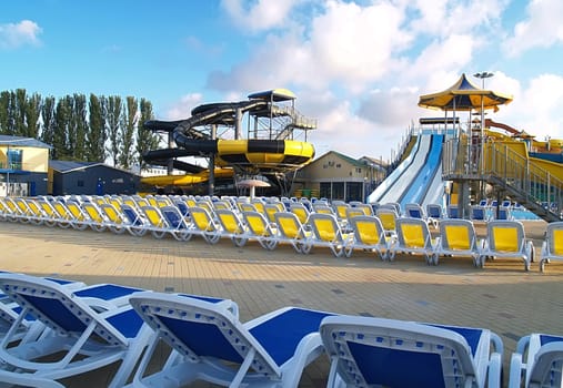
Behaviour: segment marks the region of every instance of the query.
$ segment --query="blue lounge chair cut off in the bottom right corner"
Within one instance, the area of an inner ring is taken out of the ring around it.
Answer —
[[[509,388],[563,386],[563,337],[531,334],[516,344],[510,364]]]

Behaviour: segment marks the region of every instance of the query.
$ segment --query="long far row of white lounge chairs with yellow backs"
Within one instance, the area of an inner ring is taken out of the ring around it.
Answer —
[[[303,254],[314,247],[328,247],[336,257],[364,251],[389,261],[399,253],[418,253],[431,265],[438,265],[445,256],[469,256],[477,267],[483,267],[489,258],[516,257],[529,270],[535,261],[534,245],[517,221],[487,222],[485,238],[477,239],[472,221],[428,217],[415,204],[406,206],[408,216],[401,217],[393,204],[379,206],[372,215],[371,206],[343,203],[315,203],[312,212],[300,203],[290,204],[288,210],[274,202],[189,203],[164,198],[155,205],[125,200],[111,203],[3,198],[0,203],[3,218],[10,221],[129,232],[134,236],[152,233],[158,238],[171,235],[179,241],[201,236],[210,244],[230,238],[239,247],[255,241],[269,251],[285,243]],[[435,238],[429,225],[439,228]],[[542,272],[551,259],[563,258],[559,246],[562,239],[556,238],[562,229],[560,223],[547,227],[540,262]]]

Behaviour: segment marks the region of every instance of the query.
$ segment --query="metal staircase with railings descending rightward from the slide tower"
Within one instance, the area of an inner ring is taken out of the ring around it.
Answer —
[[[442,176],[445,181],[486,182],[546,222],[563,218],[563,181],[504,143],[485,143],[481,150],[466,137],[446,142]]]

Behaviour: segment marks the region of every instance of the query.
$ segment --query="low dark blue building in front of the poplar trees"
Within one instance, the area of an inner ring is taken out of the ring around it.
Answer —
[[[68,194],[135,194],[140,176],[97,162],[51,161],[49,193]]]

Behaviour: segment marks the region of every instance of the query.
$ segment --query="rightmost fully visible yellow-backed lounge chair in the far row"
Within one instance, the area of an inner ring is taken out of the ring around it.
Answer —
[[[534,244],[526,239],[521,222],[493,219],[486,224],[486,237],[481,247],[477,266],[483,267],[489,257],[520,257],[524,262],[524,269],[530,270],[534,255]]]

